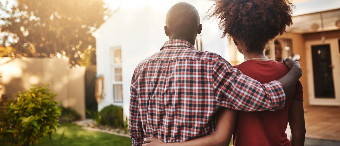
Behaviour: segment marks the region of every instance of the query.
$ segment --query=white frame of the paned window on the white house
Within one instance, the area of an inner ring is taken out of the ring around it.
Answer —
[[[116,81],[116,72],[115,69],[116,68],[122,68],[122,63],[115,63],[115,50],[120,49],[120,54],[121,54],[121,47],[120,46],[116,46],[116,47],[111,47],[110,48],[110,70],[111,70],[111,89],[112,89],[112,98],[113,98],[113,102],[114,103],[123,103],[123,96],[121,101],[117,101],[115,98],[115,91],[114,91],[114,85],[122,85],[123,86],[123,82],[122,81]],[[120,55],[121,57],[121,55]],[[123,92],[123,91],[122,91]]]

